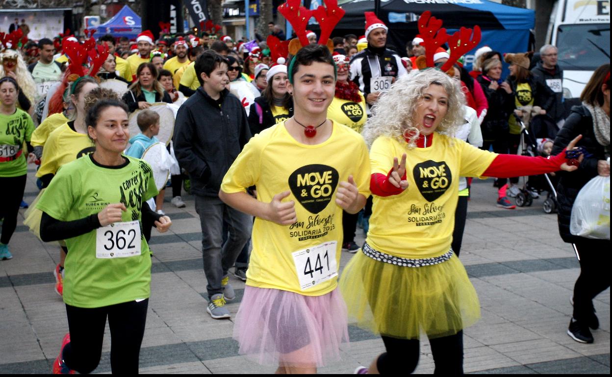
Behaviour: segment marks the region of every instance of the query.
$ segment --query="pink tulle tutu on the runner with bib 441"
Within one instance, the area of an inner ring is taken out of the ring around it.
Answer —
[[[346,304],[338,288],[323,296],[246,286],[236,315],[239,353],[264,365],[323,367],[348,343]]]

